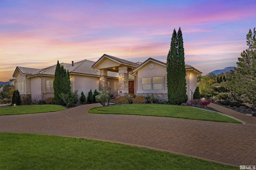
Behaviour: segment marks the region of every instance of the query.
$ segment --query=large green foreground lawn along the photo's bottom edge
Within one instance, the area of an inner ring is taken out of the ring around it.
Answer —
[[[169,152],[48,135],[0,133],[0,169],[237,170]]]

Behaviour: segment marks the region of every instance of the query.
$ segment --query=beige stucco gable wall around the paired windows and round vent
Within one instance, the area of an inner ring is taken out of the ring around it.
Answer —
[[[154,64],[154,68],[150,69],[149,65]],[[146,93],[167,93],[167,81],[166,81],[166,66],[162,66],[157,63],[149,62],[145,64],[142,68],[138,70],[136,76],[136,89],[137,94],[146,94]],[[162,76],[163,77],[163,88],[162,90],[153,90],[152,77]],[[142,90],[142,78],[150,77],[151,78],[151,90]]]

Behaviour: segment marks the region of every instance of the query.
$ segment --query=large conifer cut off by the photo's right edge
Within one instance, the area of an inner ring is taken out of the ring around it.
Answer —
[[[244,103],[256,105],[256,30],[246,35],[248,49],[238,58],[236,74],[231,77],[228,86],[232,93]],[[242,83],[241,83],[242,82]]]

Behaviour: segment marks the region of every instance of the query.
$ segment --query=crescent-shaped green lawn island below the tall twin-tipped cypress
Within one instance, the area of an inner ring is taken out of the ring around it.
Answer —
[[[204,121],[218,121],[226,123],[241,123],[240,121],[236,121],[235,119],[214,111],[176,105],[126,104],[96,107],[94,109],[90,109],[88,112],[101,114],[161,116]]]

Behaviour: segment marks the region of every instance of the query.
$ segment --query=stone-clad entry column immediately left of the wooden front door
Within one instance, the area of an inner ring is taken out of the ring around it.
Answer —
[[[126,66],[119,66],[118,67],[118,96],[125,96],[129,94],[128,89],[128,71]]]

